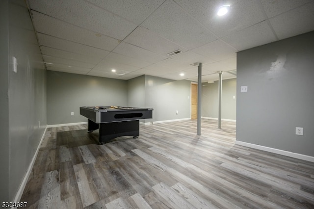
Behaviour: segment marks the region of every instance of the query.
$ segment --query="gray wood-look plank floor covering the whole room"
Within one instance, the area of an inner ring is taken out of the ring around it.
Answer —
[[[140,126],[98,145],[86,125],[49,128],[21,201],[28,208],[314,208],[314,163],[235,145],[235,123]],[[254,137],[254,136],[252,136]]]

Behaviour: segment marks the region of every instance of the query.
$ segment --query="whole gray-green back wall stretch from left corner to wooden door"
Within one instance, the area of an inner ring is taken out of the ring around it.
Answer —
[[[49,125],[85,122],[79,107],[98,105],[154,108],[153,119],[141,120],[145,123],[190,118],[189,96],[187,80],[140,76],[127,81],[47,71]]]

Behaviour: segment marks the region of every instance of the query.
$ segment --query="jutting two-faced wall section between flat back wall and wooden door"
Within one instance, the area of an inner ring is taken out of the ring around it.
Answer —
[[[130,79],[128,105],[154,109],[145,123],[190,118],[190,83],[146,75]]]

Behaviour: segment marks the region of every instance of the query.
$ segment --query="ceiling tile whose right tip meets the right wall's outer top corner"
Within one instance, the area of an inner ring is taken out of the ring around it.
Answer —
[[[237,50],[222,40],[213,41],[193,50],[193,52],[202,54],[213,60],[223,60],[234,57]]]

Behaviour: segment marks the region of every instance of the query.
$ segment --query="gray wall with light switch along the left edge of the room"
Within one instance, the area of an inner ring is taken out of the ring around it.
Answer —
[[[0,24],[0,202],[9,202],[47,125],[46,71],[25,1],[1,0]]]

